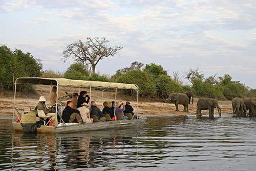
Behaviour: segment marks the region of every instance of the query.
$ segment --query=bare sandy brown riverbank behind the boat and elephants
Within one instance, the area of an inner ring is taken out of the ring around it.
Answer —
[[[37,90],[38,95],[24,95],[21,93],[17,94],[17,109],[20,113],[24,111],[28,111],[29,108],[35,107],[38,103],[38,98],[40,96],[45,96],[47,100],[49,99],[50,87],[36,85],[35,89]],[[65,91],[68,93],[78,92],[77,88],[60,88],[60,96],[65,95]],[[88,90],[86,90],[88,91]],[[120,93],[120,92],[119,92]],[[13,93],[11,91],[1,92],[0,93],[0,116],[12,116],[12,108],[13,108]],[[68,98],[62,99],[62,101],[67,101]],[[91,100],[95,100],[97,106],[101,107],[103,103],[102,99],[102,90],[93,90],[91,93]],[[104,101],[113,101],[114,100],[114,92],[106,91],[104,92]],[[117,101],[131,101],[133,108],[136,110],[136,101],[132,99],[131,96],[126,96],[123,94],[119,94],[117,96]],[[175,111],[175,105],[170,103],[161,103],[161,102],[148,102],[148,101],[140,101],[139,102],[139,114],[143,114],[145,116],[177,116],[177,115],[195,115],[196,114],[196,101],[194,100],[194,104],[189,105],[189,113],[183,112],[183,106],[179,106],[179,110]],[[47,101],[48,102],[48,101]],[[48,103],[47,103],[48,104]],[[232,114],[232,106],[231,101],[219,101],[219,106],[221,106],[222,114]],[[204,113],[208,113],[208,111],[204,111]],[[217,110],[215,110],[217,113]]]

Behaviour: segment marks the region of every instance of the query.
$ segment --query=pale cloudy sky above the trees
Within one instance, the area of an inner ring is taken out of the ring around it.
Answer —
[[[230,74],[256,88],[254,0],[0,0],[0,24],[0,44],[31,52],[44,70],[63,72],[73,63],[61,61],[68,44],[106,37],[123,49],[100,61],[100,74],[139,61],[162,65],[170,76],[197,67],[206,77]]]

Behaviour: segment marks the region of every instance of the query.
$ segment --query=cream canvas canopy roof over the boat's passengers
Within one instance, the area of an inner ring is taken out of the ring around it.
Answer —
[[[101,81],[70,80],[66,78],[40,78],[40,77],[21,77],[17,78],[17,84],[42,84],[60,85],[65,87],[102,87],[102,88],[121,88],[137,90],[135,84],[108,83]]]

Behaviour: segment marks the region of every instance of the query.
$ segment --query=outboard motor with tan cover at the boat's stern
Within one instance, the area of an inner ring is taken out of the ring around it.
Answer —
[[[35,116],[35,111],[29,111],[22,114],[21,126],[24,133],[37,133],[37,117]]]

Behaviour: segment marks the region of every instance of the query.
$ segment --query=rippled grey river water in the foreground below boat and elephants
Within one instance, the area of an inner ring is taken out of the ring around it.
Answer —
[[[0,120],[0,169],[256,170],[255,119],[149,117],[139,129],[14,133]]]

